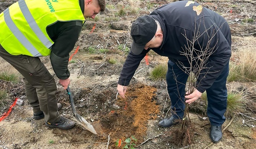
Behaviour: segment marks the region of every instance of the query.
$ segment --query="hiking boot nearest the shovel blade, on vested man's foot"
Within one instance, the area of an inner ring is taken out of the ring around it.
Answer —
[[[70,128],[73,128],[75,126],[75,124],[76,123],[73,120],[67,119],[63,116],[61,116],[61,119],[54,124],[45,122],[45,125],[50,128],[56,127],[56,128],[60,128],[60,129],[70,129]]]

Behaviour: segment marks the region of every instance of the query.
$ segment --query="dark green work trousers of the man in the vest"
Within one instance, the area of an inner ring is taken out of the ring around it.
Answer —
[[[60,120],[53,76],[39,57],[11,55],[0,45],[0,56],[23,75],[26,95],[34,113],[44,112],[45,121],[55,123]]]

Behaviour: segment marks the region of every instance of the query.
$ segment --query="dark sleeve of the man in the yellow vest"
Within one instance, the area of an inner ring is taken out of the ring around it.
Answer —
[[[73,50],[82,29],[82,21],[58,22],[47,28],[54,41],[50,60],[53,71],[59,79],[67,79],[69,53]]]

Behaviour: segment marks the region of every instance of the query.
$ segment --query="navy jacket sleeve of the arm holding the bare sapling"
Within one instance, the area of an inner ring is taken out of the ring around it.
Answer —
[[[225,37],[224,35],[226,33],[223,33],[229,32],[229,30],[226,22],[218,26],[211,17],[204,17],[204,24],[201,24],[199,27],[198,32],[201,36],[198,38],[198,42],[195,43],[195,48],[198,50],[205,49],[208,44],[209,48],[206,48],[206,50],[211,49],[210,51],[212,52],[205,63],[204,69],[200,71],[197,78],[196,89],[201,93],[212,86],[215,79],[222,73],[223,68],[229,62],[231,56],[231,39]]]

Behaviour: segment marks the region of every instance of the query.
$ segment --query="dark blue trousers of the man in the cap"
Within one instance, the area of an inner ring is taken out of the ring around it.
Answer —
[[[227,109],[227,76],[228,63],[224,67],[220,76],[214,81],[212,86],[206,90],[207,93],[207,116],[211,125],[221,126],[225,122],[224,113]],[[185,109],[185,84],[188,74],[184,73],[176,63],[168,61],[168,71],[166,74],[167,90],[171,98],[172,113],[176,118],[183,118]]]

